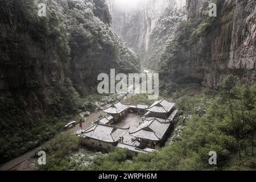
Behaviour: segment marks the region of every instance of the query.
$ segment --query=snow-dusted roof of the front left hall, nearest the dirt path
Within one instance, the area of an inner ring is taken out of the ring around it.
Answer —
[[[104,142],[113,143],[117,142],[121,137],[123,137],[123,135],[129,131],[129,129],[130,127],[127,129],[122,129],[119,127],[102,125],[101,123],[98,123],[97,125],[85,130],[82,134],[80,134],[80,137],[89,137]]]

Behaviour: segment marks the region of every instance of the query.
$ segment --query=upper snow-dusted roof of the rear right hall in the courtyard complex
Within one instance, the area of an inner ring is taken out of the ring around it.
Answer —
[[[174,105],[175,103],[163,99],[161,101],[155,101],[147,110],[155,113],[168,113]]]

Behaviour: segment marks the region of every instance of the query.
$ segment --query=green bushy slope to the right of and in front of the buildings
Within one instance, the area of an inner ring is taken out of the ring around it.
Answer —
[[[76,154],[65,156],[65,159],[52,157],[47,166],[39,169],[53,169],[52,166],[57,170],[256,168],[256,85],[235,86],[231,77],[215,96],[209,92],[193,95],[187,92],[176,103],[183,114],[176,123],[171,142],[158,148],[159,152],[139,154],[130,161],[127,161],[126,151],[118,148],[107,155],[84,152],[77,162],[73,160]],[[209,165],[210,151],[217,152],[217,165]]]

